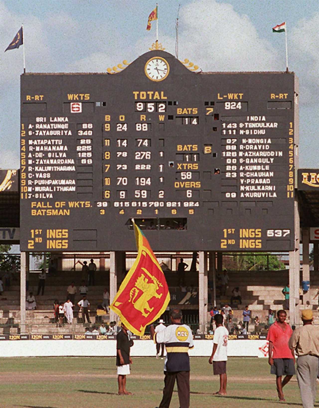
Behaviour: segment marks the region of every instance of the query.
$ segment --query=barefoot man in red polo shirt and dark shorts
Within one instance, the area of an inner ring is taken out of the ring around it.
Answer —
[[[267,340],[269,340],[268,364],[270,374],[276,375],[276,384],[279,401],[286,401],[283,396],[283,387],[296,374],[294,369],[294,350],[290,350],[288,341],[292,335],[291,327],[285,322],[287,313],[285,310],[278,310],[277,322],[270,326]],[[281,377],[286,377],[281,381]]]

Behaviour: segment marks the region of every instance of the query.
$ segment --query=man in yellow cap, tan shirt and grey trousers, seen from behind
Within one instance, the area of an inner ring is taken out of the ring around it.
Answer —
[[[316,380],[319,359],[319,327],[313,326],[312,310],[301,313],[303,326],[292,333],[289,348],[296,350],[297,380],[304,408],[313,408],[316,399]]]

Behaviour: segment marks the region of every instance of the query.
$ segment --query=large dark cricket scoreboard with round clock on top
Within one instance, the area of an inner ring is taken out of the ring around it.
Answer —
[[[291,250],[295,83],[163,51],[21,75],[21,250],[132,251],[132,218],[157,251]]]

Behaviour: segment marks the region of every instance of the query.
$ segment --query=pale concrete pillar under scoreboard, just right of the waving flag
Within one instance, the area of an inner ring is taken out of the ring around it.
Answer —
[[[199,328],[206,332],[207,323],[207,252],[199,252]]]

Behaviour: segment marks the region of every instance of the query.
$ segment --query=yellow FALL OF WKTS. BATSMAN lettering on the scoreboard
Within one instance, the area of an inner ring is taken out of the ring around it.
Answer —
[[[49,202],[31,202],[31,215],[70,215],[69,208],[91,208],[90,201],[57,201],[53,204]],[[56,208],[54,208],[56,207]],[[62,208],[68,207],[68,208]]]

